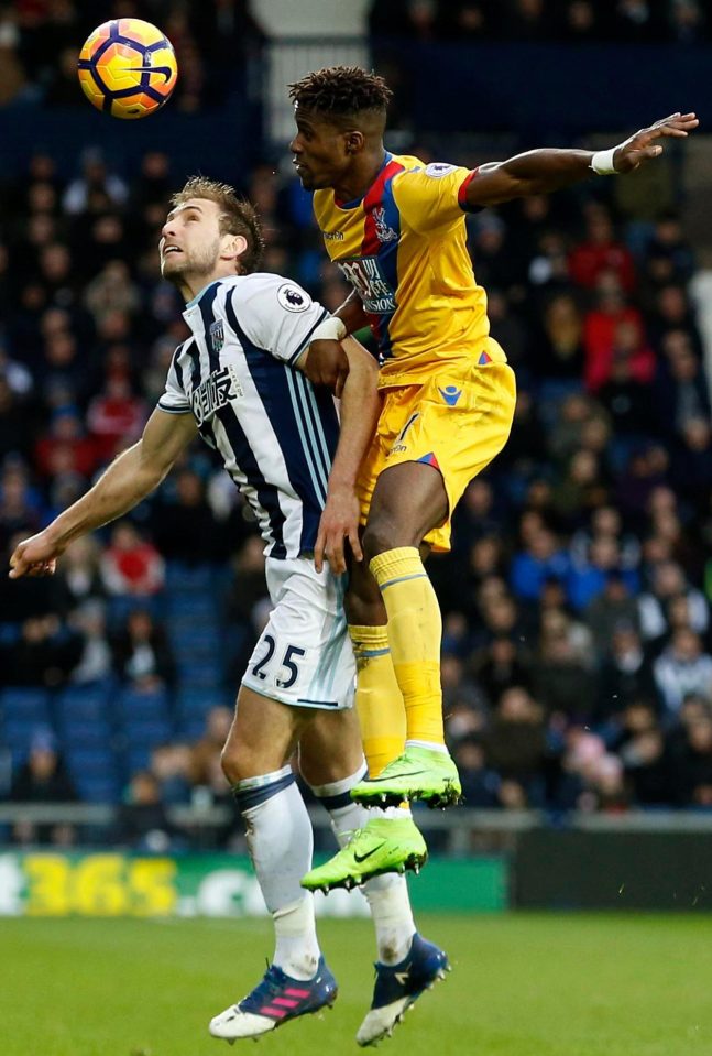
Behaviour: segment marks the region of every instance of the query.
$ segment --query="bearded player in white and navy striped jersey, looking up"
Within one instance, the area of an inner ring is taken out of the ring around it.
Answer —
[[[255,511],[274,609],[240,688],[223,769],[245,818],[276,949],[264,980],[210,1024],[211,1034],[232,1041],[336,998],[313,896],[299,884],[313,837],[289,760],[298,748],[303,776],[346,842],[368,820],[349,796],[365,764],[351,709],[354,664],[342,588],[328,564],[317,571],[314,552],[324,549],[338,566],[348,537],[359,554],[353,483],[377,415],[376,368],[352,338],[343,342],[333,377],[324,379],[341,396],[339,426],[331,392],[303,373],[310,342],[331,336],[328,313],[295,283],[253,273],[261,235],[252,208],[201,177],[173,205],[161,239],[162,271],[190,298],[191,336],[173,358],[139,443],[18,546],[10,575],[52,574],[73,538],[136,505],[198,433]],[[364,893],[380,959],[395,965],[415,933],[405,880],[375,877]],[[275,1001],[281,993],[287,997]]]

